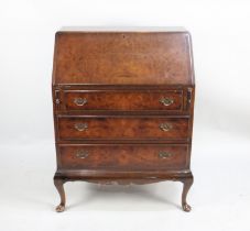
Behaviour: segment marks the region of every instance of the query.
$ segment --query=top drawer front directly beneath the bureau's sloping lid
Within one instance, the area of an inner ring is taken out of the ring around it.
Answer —
[[[64,91],[66,110],[173,110],[183,109],[182,90]]]

